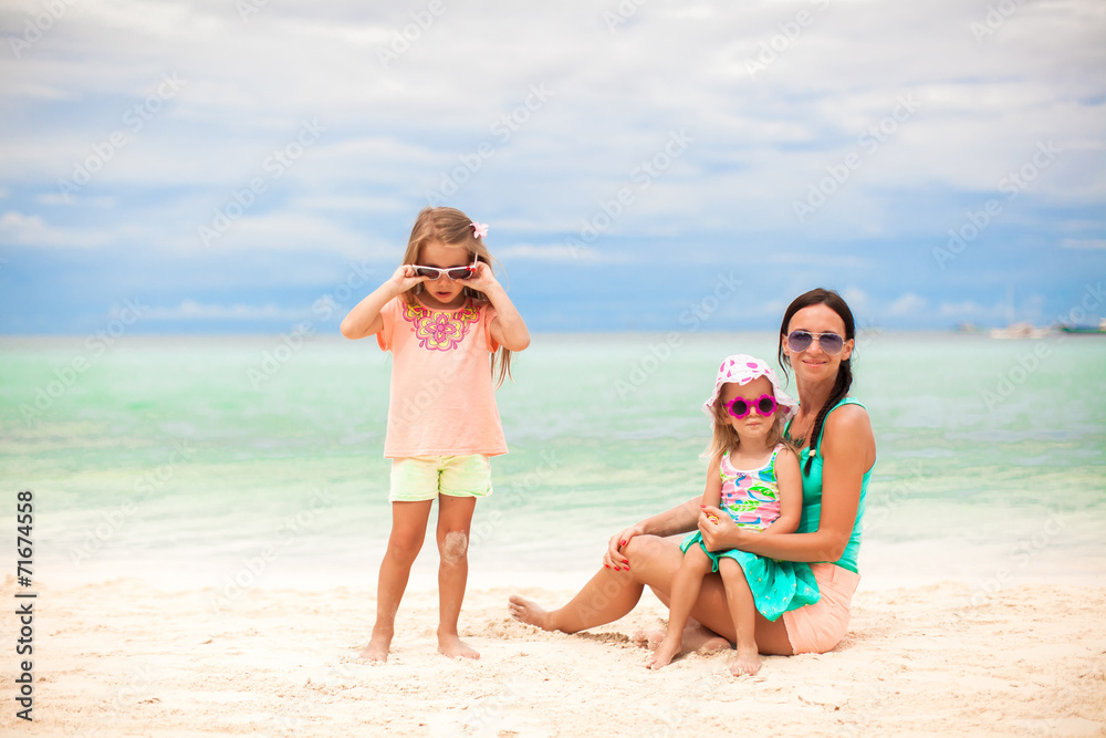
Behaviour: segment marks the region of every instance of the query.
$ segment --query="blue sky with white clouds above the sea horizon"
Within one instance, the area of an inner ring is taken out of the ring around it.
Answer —
[[[336,334],[427,205],[533,331],[1106,316],[1106,4],[9,0],[0,334]]]

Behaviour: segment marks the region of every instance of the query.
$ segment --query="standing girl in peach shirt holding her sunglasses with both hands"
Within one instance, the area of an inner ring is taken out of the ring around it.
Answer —
[[[507,453],[494,389],[510,375],[511,352],[530,345],[522,316],[492,274],[487,232],[455,208],[425,208],[403,264],[342,321],[344,336],[375,334],[394,358],[384,444],[392,459],[392,536],[380,563],[376,624],[361,654],[369,661],[387,661],[435,499],[438,651],[480,657],[457,633],[469,529],[477,498],[491,493],[489,457]]]

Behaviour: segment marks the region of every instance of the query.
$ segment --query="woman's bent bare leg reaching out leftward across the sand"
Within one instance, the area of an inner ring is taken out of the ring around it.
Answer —
[[[531,600],[512,595],[511,614],[523,623],[565,633],[613,623],[637,605],[646,584],[662,585],[667,591],[684,561],[676,542],[655,536],[634,538],[625,553],[629,571],[601,569],[564,606],[545,611]]]

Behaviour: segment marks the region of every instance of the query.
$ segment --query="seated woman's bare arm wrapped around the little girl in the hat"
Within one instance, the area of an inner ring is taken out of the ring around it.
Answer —
[[[729,517],[711,524],[707,508],[699,516],[699,530],[710,551],[741,549],[762,557],[784,561],[837,561],[845,552],[856,508],[860,502],[864,474],[876,460],[876,440],[872,435],[868,414],[858,405],[846,405],[833,412],[822,432],[822,516],[818,529],[812,533],[761,536],[738,528]]]

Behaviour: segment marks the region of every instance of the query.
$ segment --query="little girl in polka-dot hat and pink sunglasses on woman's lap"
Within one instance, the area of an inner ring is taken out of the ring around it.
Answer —
[[[783,441],[783,428],[796,403],[780,388],[775,372],[759,358],[728,356],[718,370],[714,392],[702,410],[713,424],[713,439],[702,506],[729,513],[740,527],[763,534],[794,532],[803,502],[799,457]],[[714,519],[717,522],[717,519]],[[710,524],[710,523],[707,523]],[[818,600],[810,565],[764,559],[745,551],[708,551],[702,533],[680,547],[684,561],[672,580],[668,628],[648,662],[661,668],[680,652],[684,627],[699,597],[702,578],[719,572],[738,634],[734,675],[760,669],[757,611],[774,621],[784,612]]]

